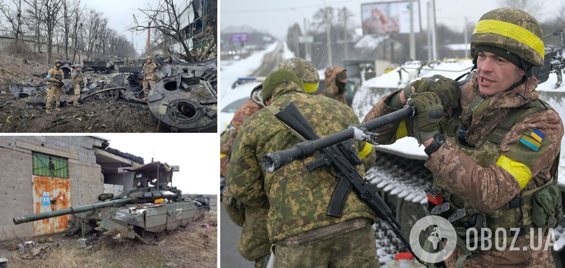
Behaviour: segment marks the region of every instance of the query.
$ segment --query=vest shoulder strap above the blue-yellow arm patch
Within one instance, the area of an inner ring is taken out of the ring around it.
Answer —
[[[496,128],[486,137],[486,139],[499,145],[508,131],[516,123],[528,116],[533,115],[534,113],[549,109],[555,111],[553,107],[551,107],[541,99],[536,99],[532,102],[524,104],[523,106],[512,108],[508,115],[498,124],[498,126],[496,126]]]

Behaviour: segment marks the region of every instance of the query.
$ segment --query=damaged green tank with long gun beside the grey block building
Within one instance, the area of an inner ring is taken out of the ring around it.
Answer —
[[[135,172],[136,188],[117,196],[101,194],[98,196],[101,203],[16,217],[14,224],[67,217],[69,236],[95,230],[116,240],[145,241],[165,230],[189,225],[210,210],[209,199],[183,198],[181,190],[168,186],[173,167],[167,163],[156,161],[124,170]]]

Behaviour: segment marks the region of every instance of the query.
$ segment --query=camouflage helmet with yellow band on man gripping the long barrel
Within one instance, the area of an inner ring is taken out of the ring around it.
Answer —
[[[518,67],[524,65],[520,59],[541,67],[545,56],[543,38],[540,23],[532,15],[516,8],[497,8],[477,22],[471,36],[471,56],[476,59],[478,52],[489,51],[518,63]]]

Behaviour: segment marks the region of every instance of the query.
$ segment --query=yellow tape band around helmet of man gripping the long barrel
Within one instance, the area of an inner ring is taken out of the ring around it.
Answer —
[[[541,59],[545,57],[544,41],[530,32],[528,29],[522,28],[516,24],[507,23],[501,20],[480,20],[473,30],[475,33],[496,33],[501,36],[510,37],[518,42],[524,43],[540,54]]]

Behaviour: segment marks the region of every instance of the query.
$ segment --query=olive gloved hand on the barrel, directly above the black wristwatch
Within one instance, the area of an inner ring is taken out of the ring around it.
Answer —
[[[410,95],[406,103],[416,109],[414,134],[418,143],[422,144],[424,140],[440,133],[440,120],[444,115],[444,107],[436,93],[414,93]]]

